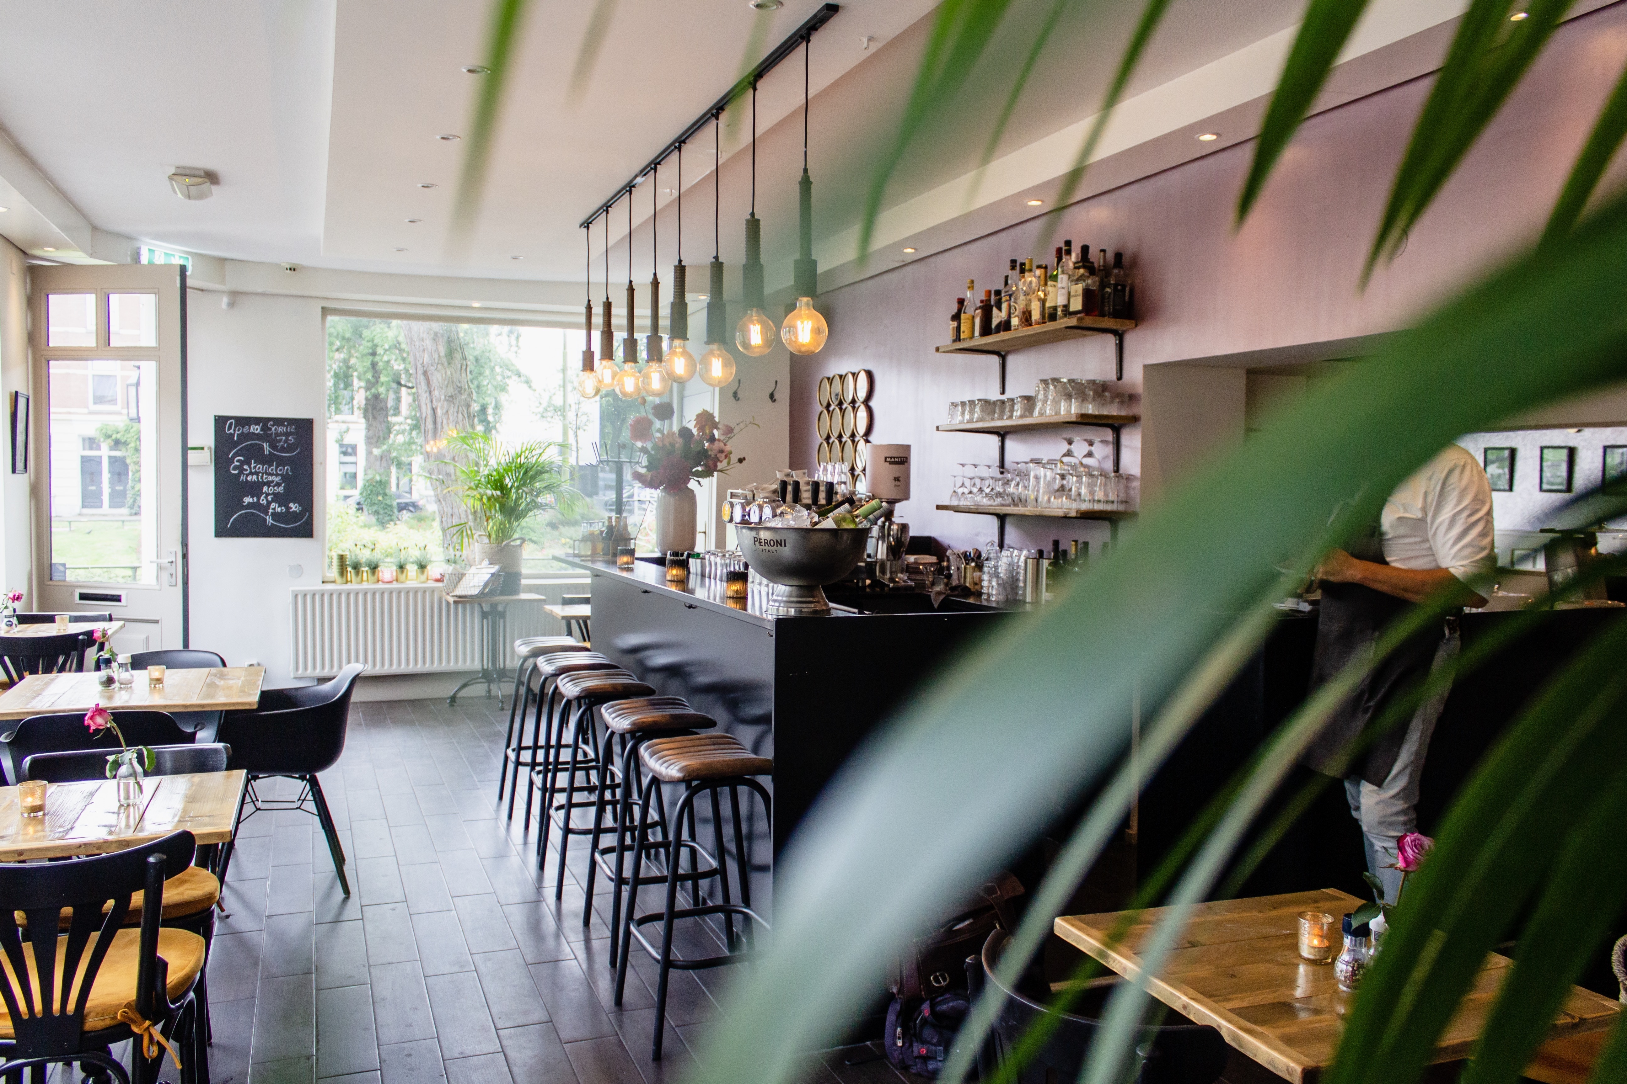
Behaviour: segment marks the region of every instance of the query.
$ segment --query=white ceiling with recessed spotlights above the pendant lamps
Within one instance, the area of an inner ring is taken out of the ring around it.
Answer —
[[[578,223],[818,2],[786,0],[758,15],[745,0],[618,0],[586,93],[573,99],[571,70],[595,5],[534,0],[482,210],[454,245],[447,228],[467,141],[436,137],[467,135],[486,76],[462,67],[483,60],[488,0],[0,0],[0,137],[10,137],[0,138],[0,205],[15,197],[23,211],[0,213],[0,234],[37,250],[67,231],[103,258],[122,257],[85,241],[99,231],[229,260],[521,280],[539,283],[537,297],[553,304],[566,284],[581,283]],[[851,234],[859,219],[874,163],[896,137],[936,3],[843,0],[814,39],[810,166],[822,244]],[[1303,3],[1176,0],[1131,96],[1284,41]],[[965,91],[909,145],[885,206],[919,203],[976,171],[1027,55],[1028,28],[1019,20],[1041,18],[1046,7],[1017,0]],[[1381,0],[1373,11],[1394,7]],[[1425,7],[1442,8],[1432,20],[1451,18],[1461,0]],[[1045,44],[996,159],[1017,161],[1093,112],[1137,13],[1139,5],[1079,0]],[[792,59],[760,91],[757,208],[771,280],[789,270],[794,249],[800,76]],[[750,171],[747,154],[729,154],[744,150],[745,135],[744,125],[724,135],[721,232],[731,263],[742,258]],[[691,265],[711,255],[709,158],[708,135],[685,154]],[[174,166],[212,171],[213,198],[176,198],[164,179]],[[7,187],[28,187],[20,174],[33,176],[31,192]],[[664,169],[664,205],[674,182],[675,171]],[[649,193],[639,189],[635,208],[639,280],[651,265]],[[664,206],[664,267],[675,255],[674,224]],[[620,242],[613,281],[628,275],[625,231],[623,205],[610,231]],[[602,244],[595,231],[595,280]],[[579,297],[579,289],[568,293]]]

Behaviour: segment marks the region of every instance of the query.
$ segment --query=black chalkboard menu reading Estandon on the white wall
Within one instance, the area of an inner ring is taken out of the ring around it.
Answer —
[[[215,538],[311,538],[309,418],[215,414]]]

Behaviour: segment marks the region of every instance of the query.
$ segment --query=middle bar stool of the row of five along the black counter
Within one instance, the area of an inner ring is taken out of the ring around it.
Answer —
[[[532,780],[537,782],[539,775],[542,783],[542,830],[537,832],[537,868],[542,869],[548,858],[548,832],[553,824],[553,814],[560,816],[560,868],[555,874],[553,882],[553,899],[565,897],[565,856],[571,847],[573,835],[591,835],[591,827],[578,827],[571,824],[571,814],[576,809],[589,809],[597,804],[597,801],[589,801],[586,795],[591,788],[599,783],[599,765],[602,762],[599,752],[599,728],[594,725],[594,709],[602,704],[610,704],[612,700],[628,700],[631,697],[654,696],[656,691],[648,684],[635,678],[625,670],[602,670],[602,671],[579,671],[579,673],[563,673],[553,683],[553,692],[560,696],[560,712],[555,717],[553,733],[561,736],[569,733],[568,746],[565,743],[548,743],[555,748],[547,749],[548,759],[552,761],[540,772],[532,772]],[[571,762],[563,764],[565,749],[571,751]],[[556,803],[555,795],[558,793],[560,775],[565,775],[565,801]],[[578,787],[578,777],[587,777],[581,787]],[[581,790],[584,798],[578,800],[576,791]],[[527,791],[527,801],[530,793]],[[589,868],[592,868],[589,865]],[[592,899],[586,900],[587,907],[592,907]]]

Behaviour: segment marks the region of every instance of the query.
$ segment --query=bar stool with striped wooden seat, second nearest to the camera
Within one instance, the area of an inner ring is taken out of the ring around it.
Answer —
[[[589,855],[592,856],[592,865],[587,868],[587,899],[594,897],[594,876],[599,869],[604,869],[605,878],[608,878],[610,889],[610,967],[615,967],[617,951],[620,944],[617,943],[615,931],[622,926],[622,886],[625,884],[626,869],[626,848],[628,848],[628,830],[633,821],[633,811],[639,806],[644,796],[644,787],[641,787],[643,772],[638,770],[638,751],[646,741],[656,738],[675,738],[680,735],[695,735],[703,730],[713,730],[718,726],[718,720],[711,715],[703,715],[693,710],[682,697],[636,697],[631,700],[617,700],[613,704],[605,704],[599,709],[599,717],[605,723],[605,744],[604,744],[604,764],[599,770],[599,796],[594,804],[594,835],[592,845],[589,847]],[[620,744],[620,754],[617,752],[617,744]],[[656,787],[656,819],[644,821],[631,830],[649,832],[662,830],[665,832],[665,803]],[[602,832],[605,806],[608,804],[612,793],[615,796],[615,843],[602,845]],[[695,827],[690,826],[693,834]],[[615,855],[615,861],[610,856]],[[646,878],[644,884],[656,884],[661,878]],[[592,910],[582,910],[582,926],[589,925],[592,918]]]

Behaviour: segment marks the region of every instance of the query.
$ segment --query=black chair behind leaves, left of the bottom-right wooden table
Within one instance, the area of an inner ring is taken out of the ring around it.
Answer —
[[[1017,1084],[1046,1084],[1046,1081],[1077,1081],[1090,1053],[1090,1043],[1101,1029],[1097,1016],[1106,1003],[1111,988],[1118,983],[1100,985],[1085,991],[1074,1006],[1077,1012],[1053,1012],[1045,1006],[1051,991],[1005,986],[994,977],[1001,952],[1010,934],[996,930],[983,943],[983,960],[978,967],[968,959],[966,975],[971,980],[973,996],[983,991],[984,983],[992,983],[1005,995],[994,1029],[981,1051],[978,1051],[978,1069],[983,1079],[991,1079],[996,1066],[1002,1064],[1022,1037],[1041,1017],[1056,1021],[1051,1038],[1017,1068],[1012,1077]],[[1186,1017],[1180,1017],[1186,1019]],[[1202,1024],[1176,1025],[1142,1025],[1136,1035],[1136,1084],[1214,1084],[1220,1079],[1227,1063],[1225,1038],[1214,1027]]]

